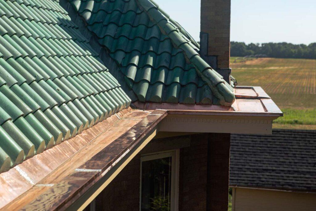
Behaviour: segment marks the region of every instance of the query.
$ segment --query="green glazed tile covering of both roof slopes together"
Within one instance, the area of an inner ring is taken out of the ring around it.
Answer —
[[[69,0],[142,102],[231,105],[233,88],[149,0]],[[131,99],[58,0],[0,0],[0,173]]]

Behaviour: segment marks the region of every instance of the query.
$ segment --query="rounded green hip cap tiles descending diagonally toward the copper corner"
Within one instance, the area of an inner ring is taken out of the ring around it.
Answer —
[[[174,26],[172,22],[173,25],[168,22],[168,20],[171,20],[168,18],[168,15],[165,16],[165,14],[158,9],[159,6],[152,0],[136,0],[136,2],[143,7],[149,18],[156,22],[161,32],[169,36],[174,46],[183,50],[185,59],[189,60],[196,67],[197,74],[209,85],[214,95],[219,99],[220,104],[231,106],[235,101],[233,88],[227,86],[223,77],[213,70],[210,65],[200,57],[196,50],[190,46],[191,41],[185,37],[189,42],[186,41],[185,38],[180,35],[177,26]],[[163,21],[164,26],[162,26],[163,23],[161,23]]]

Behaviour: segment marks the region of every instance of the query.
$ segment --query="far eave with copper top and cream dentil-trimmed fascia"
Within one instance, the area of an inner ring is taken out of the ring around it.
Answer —
[[[170,103],[134,104],[140,109],[166,109],[161,132],[216,132],[271,134],[272,121],[282,111],[261,87],[237,86],[232,106]]]

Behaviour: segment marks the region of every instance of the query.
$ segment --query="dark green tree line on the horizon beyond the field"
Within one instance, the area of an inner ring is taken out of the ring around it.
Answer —
[[[230,42],[230,56],[265,54],[274,58],[316,59],[316,42],[309,45],[295,45],[287,42],[250,43]]]

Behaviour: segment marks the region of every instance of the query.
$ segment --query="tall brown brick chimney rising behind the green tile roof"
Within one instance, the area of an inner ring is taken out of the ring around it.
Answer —
[[[230,0],[201,0],[201,32],[208,33],[208,55],[217,56],[217,67],[229,68]]]

